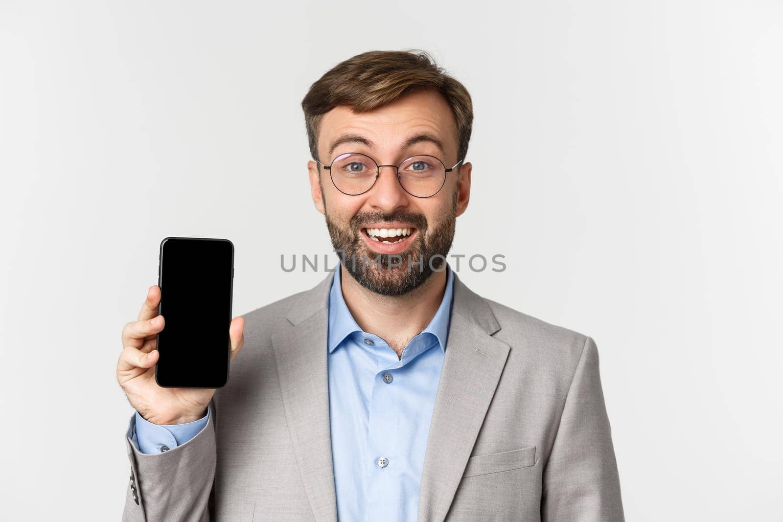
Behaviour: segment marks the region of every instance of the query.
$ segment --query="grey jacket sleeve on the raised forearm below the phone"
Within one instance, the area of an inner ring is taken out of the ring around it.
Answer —
[[[148,455],[132,442],[135,416],[125,436],[130,478],[122,520],[211,520],[215,481],[215,398],[207,406],[207,423],[195,437],[167,452]]]

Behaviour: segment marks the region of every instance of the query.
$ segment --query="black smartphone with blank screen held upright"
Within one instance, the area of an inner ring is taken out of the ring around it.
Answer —
[[[161,241],[157,284],[161,387],[219,388],[229,380],[234,245],[228,239],[167,237]]]

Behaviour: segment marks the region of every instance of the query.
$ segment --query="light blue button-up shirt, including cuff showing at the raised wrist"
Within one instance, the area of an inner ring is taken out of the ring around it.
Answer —
[[[356,324],[337,265],[329,294],[327,362],[339,520],[417,520],[453,301],[454,275],[446,266],[446,293],[435,317],[398,358],[386,341]],[[137,412],[133,441],[143,453],[175,448],[204,429],[208,416],[163,427]]]

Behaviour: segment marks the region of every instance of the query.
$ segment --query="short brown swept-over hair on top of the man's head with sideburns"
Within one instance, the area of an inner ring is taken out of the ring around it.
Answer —
[[[451,107],[456,121],[457,160],[464,160],[473,127],[471,95],[420,49],[363,52],[337,63],[310,86],[301,108],[313,160],[319,160],[316,138],[323,113],[337,105],[362,113],[426,88],[437,89]]]

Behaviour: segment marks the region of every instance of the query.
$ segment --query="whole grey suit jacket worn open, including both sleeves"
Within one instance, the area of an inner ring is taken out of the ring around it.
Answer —
[[[126,437],[123,520],[337,520],[333,276],[243,315],[244,348],[200,434],[157,455]],[[484,299],[456,273],[453,291],[418,520],[623,520],[594,340]]]

